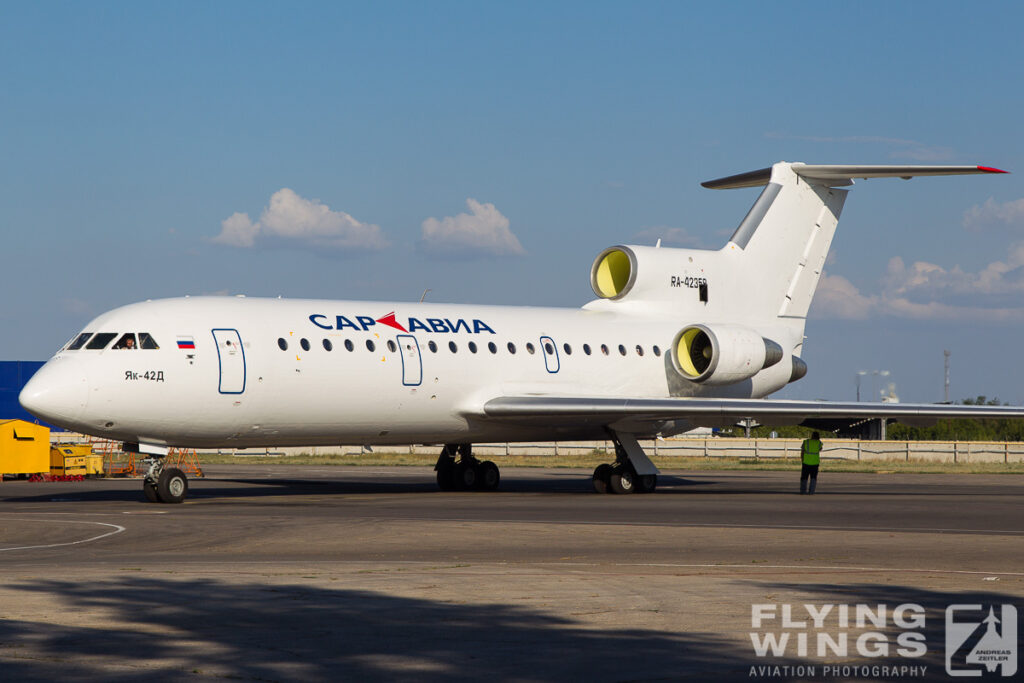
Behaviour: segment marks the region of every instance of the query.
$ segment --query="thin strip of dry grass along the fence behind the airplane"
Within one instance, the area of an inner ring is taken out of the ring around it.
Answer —
[[[350,456],[227,456],[200,454],[203,465],[319,465],[319,466],[421,466],[433,467],[437,456],[433,454],[368,453]],[[593,468],[611,460],[610,455],[591,453],[569,456],[497,456],[501,467],[557,467]],[[799,470],[796,458],[684,458],[654,457],[655,465],[663,470]],[[867,472],[878,474],[1024,474],[1024,463],[937,463],[924,460],[826,460],[821,469],[830,472]]]

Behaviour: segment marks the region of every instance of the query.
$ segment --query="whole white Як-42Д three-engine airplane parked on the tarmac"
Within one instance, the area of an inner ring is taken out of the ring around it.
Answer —
[[[1024,418],[1020,407],[765,396],[804,377],[804,325],[855,178],[985,166],[779,162],[702,183],[762,186],[719,250],[617,245],[582,308],[184,297],[103,313],[28,382],[22,405],[143,456],[151,502],[180,503],[172,446],[443,444],[441,489],[498,488],[494,441],[610,439],[597,492],[650,493],[639,439],[827,418]]]

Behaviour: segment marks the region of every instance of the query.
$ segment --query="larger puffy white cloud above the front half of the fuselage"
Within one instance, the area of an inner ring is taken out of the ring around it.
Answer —
[[[210,242],[229,247],[299,246],[312,249],[377,250],[388,246],[379,225],[364,223],[319,200],[307,200],[288,187],[270,197],[260,219],[233,213]]]

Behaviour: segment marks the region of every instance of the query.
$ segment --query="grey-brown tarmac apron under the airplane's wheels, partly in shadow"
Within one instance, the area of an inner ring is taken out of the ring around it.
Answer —
[[[1024,613],[1020,475],[825,471],[799,496],[797,471],[669,472],[620,497],[583,470],[505,468],[492,494],[428,468],[206,471],[183,505],[0,484],[0,678],[946,680],[948,605]],[[837,607],[818,628],[805,604]],[[792,642],[759,656],[752,633]]]

